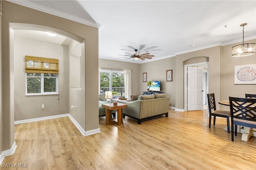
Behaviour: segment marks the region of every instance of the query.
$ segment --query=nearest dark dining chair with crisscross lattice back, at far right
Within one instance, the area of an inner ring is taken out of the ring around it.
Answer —
[[[229,97],[231,114],[231,140],[237,136],[237,125],[256,128],[256,99]]]

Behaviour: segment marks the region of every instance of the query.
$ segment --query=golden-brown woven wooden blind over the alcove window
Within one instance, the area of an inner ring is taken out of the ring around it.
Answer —
[[[59,60],[26,55],[25,71],[26,73],[58,73]]]

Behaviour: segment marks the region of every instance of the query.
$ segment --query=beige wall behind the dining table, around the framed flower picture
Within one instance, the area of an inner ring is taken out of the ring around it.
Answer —
[[[256,94],[255,84],[234,84],[234,66],[256,64],[256,54],[244,57],[232,57],[232,47],[241,43],[221,47],[220,100],[228,100],[230,96],[245,97],[245,93]],[[256,39],[244,43],[256,43]],[[229,108],[221,106],[220,109],[227,110]]]

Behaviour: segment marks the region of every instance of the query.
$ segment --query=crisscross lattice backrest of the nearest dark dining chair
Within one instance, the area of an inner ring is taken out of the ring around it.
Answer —
[[[231,120],[256,121],[256,99],[229,97],[229,104]]]

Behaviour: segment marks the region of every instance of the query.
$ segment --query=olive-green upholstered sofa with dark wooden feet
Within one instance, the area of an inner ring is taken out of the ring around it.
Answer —
[[[140,95],[136,101],[120,101],[127,105],[123,109],[123,118],[125,116],[132,117],[141,124],[142,120],[159,115],[168,117],[170,97],[166,97],[165,93],[153,95]]]

